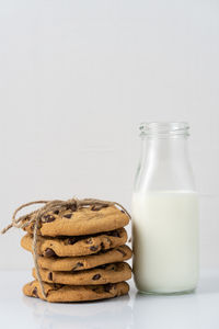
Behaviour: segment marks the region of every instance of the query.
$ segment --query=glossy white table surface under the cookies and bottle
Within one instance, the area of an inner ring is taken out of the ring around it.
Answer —
[[[218,329],[219,272],[200,276],[195,294],[148,296],[131,284],[129,296],[78,304],[51,304],[22,295],[30,271],[0,272],[1,329]]]

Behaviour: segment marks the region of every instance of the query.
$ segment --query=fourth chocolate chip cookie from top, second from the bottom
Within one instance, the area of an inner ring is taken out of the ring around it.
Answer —
[[[51,272],[39,269],[39,273],[44,282],[68,285],[117,283],[131,277],[131,269],[127,263],[105,264],[78,272]],[[33,276],[37,279],[35,269],[33,269]]]

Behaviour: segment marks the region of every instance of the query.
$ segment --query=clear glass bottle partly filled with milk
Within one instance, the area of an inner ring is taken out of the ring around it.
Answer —
[[[198,281],[198,197],[187,123],[140,125],[132,194],[134,279],[140,292],[193,292]]]

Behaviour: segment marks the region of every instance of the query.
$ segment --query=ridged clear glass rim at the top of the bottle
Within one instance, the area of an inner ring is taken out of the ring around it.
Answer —
[[[140,136],[149,138],[177,138],[189,136],[187,122],[146,122],[139,126]]]

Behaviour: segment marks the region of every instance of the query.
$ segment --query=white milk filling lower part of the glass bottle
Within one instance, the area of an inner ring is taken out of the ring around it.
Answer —
[[[198,280],[198,202],[194,192],[132,196],[134,276],[139,291],[192,291]]]

